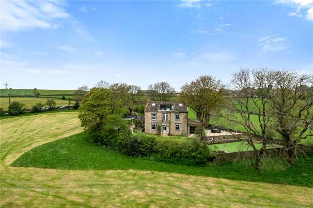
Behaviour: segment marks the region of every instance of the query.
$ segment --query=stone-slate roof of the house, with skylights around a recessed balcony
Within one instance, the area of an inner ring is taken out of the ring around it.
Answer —
[[[153,105],[154,104],[154,105]],[[169,102],[169,101],[158,101],[158,102],[148,102],[146,105],[145,112],[164,112],[164,110],[160,110],[161,104],[172,104],[174,105],[174,110],[168,110],[166,112],[175,112],[175,113],[187,113],[188,107],[185,104],[182,104],[182,106],[179,106],[179,102]]]

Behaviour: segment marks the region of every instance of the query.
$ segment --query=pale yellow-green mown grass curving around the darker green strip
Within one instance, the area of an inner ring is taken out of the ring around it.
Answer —
[[[60,170],[10,166],[36,146],[81,132],[76,118],[77,112],[66,112],[0,121],[2,207],[313,206],[312,187],[132,168]]]

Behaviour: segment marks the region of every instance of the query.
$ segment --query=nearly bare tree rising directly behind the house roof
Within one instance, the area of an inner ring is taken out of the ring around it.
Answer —
[[[161,82],[150,84],[148,94],[152,101],[170,101],[175,89],[169,83]]]

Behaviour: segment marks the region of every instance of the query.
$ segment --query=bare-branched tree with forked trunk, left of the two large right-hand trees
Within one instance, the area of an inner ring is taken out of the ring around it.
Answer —
[[[224,116],[229,122],[244,126],[248,145],[254,150],[254,168],[260,168],[261,159],[265,156],[268,144],[267,133],[272,112],[269,109],[268,93],[271,87],[272,77],[268,70],[262,68],[254,70],[252,75],[249,69],[241,69],[232,75],[229,109]],[[239,115],[239,116],[238,116]],[[251,116],[257,116],[258,122],[253,123]],[[253,143],[257,137],[262,144],[257,149]]]

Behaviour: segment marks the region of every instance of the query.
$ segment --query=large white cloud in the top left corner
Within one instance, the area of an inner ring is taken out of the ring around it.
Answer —
[[[1,1],[1,30],[51,29],[69,14],[60,1]]]

